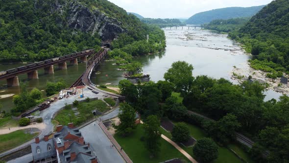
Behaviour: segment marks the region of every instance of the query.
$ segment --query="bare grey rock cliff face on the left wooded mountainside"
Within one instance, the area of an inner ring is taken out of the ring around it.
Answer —
[[[69,27],[84,32],[92,32],[93,34],[97,32],[102,41],[112,41],[125,31],[118,20],[106,16],[99,10],[90,11],[89,8],[77,2],[77,0],[66,4],[60,4],[56,0],[51,5],[51,11],[60,14],[63,13],[63,8],[67,9],[66,21]]]

